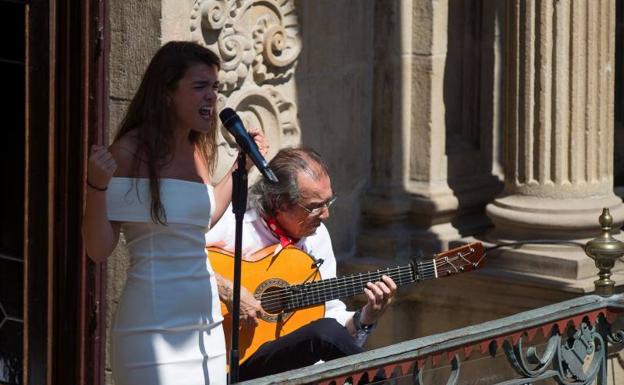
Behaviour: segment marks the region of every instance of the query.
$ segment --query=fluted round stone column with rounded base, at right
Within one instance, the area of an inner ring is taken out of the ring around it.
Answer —
[[[487,207],[494,241],[581,241],[596,234],[603,207],[622,223],[613,193],[614,15],[614,0],[507,4],[505,191]],[[595,275],[570,246],[505,250],[494,262],[553,279]]]

